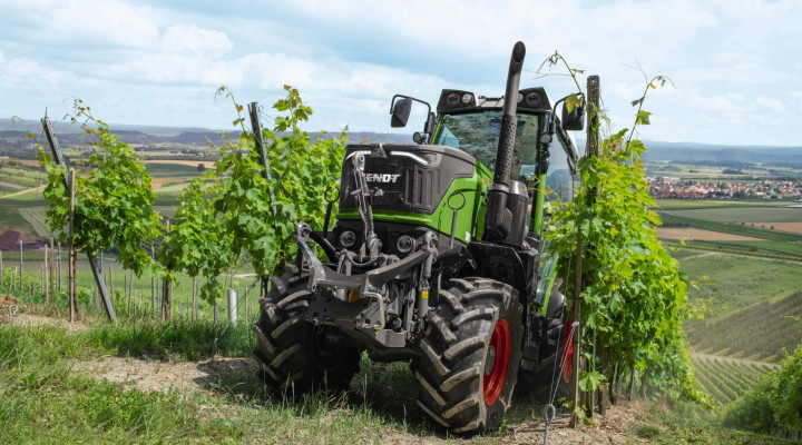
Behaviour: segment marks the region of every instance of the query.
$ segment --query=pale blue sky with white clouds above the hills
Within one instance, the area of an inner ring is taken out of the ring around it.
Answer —
[[[615,130],[665,76],[640,138],[800,147],[801,23],[801,0],[0,0],[0,118],[62,118],[80,98],[106,122],[234,129],[218,87],[270,119],[291,85],[309,131],[398,131],[395,93],[503,95],[520,40],[521,88],[575,92],[565,67],[537,72],[558,51],[583,89],[600,77]]]

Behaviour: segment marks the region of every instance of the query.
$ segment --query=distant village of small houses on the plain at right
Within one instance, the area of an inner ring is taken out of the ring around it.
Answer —
[[[658,199],[789,199],[802,201],[802,181],[714,181],[647,176],[652,196]]]

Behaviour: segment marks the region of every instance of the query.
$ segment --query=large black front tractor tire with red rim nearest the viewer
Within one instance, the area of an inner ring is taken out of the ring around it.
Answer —
[[[451,280],[430,313],[415,370],[418,405],[454,433],[501,423],[518,379],[522,308],[492,279]]]

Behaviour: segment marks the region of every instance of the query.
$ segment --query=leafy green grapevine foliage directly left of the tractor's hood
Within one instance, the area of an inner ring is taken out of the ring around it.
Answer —
[[[284,89],[286,98],[273,106],[284,115],[274,118],[273,131],[263,131],[270,178],[253,135],[243,131],[238,140],[219,147],[222,157],[207,172],[212,181],[196,179],[184,191],[177,224],[167,236],[173,266],[190,275],[203,274],[208,281],[202,296],[209,301],[217,295],[216,277],[242,251],[250,254],[256,274],[275,275],[294,258],[295,226],[301,221],[312,228],[323,226],[323,195],[336,187],[346,136],[311,140],[299,126],[312,109],[296,89]],[[226,87],[218,92],[234,100]],[[243,107],[234,103],[238,117],[233,123],[242,125]]]

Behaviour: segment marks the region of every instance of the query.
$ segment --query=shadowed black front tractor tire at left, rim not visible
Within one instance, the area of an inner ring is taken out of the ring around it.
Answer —
[[[260,319],[253,325],[254,355],[262,363],[265,383],[276,392],[346,389],[359,370],[360,352],[327,342],[327,327],[303,320],[311,295],[307,278],[305,274],[296,276],[294,267],[272,278],[271,291],[260,299]]]

